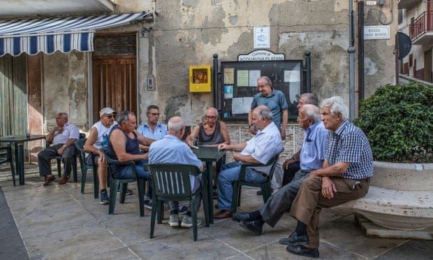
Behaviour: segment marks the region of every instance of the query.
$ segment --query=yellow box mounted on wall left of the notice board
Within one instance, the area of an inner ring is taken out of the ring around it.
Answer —
[[[212,92],[212,66],[189,66],[189,92]]]

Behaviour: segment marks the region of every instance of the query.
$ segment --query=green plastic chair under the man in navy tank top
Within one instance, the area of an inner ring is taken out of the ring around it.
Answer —
[[[120,185],[120,199],[119,203],[125,202],[125,196],[126,196],[126,189],[128,188],[129,182],[137,182],[137,188],[138,188],[138,203],[140,203],[140,217],[145,216],[145,189],[146,185],[145,179],[138,178],[137,171],[135,170],[135,163],[133,161],[117,161],[115,159],[112,159],[108,156],[105,157],[105,160],[107,161],[108,166],[108,174],[110,175],[110,198],[109,198],[109,205],[108,205],[108,214],[112,215],[115,214],[115,206],[116,206],[116,197],[117,197],[117,188]],[[126,165],[126,166],[132,166],[132,172],[135,178],[133,179],[117,179],[115,178],[115,175],[112,171],[112,167],[114,165]]]

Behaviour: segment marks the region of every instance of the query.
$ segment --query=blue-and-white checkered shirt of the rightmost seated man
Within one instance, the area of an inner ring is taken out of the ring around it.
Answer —
[[[360,180],[373,176],[373,154],[367,136],[348,120],[328,136],[325,159],[330,166],[350,163],[346,173],[340,175],[342,178]]]

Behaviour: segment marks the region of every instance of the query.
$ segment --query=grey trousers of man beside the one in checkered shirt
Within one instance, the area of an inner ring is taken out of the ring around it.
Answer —
[[[290,210],[302,185],[302,181],[308,178],[308,176],[309,172],[307,171],[296,172],[291,182],[270,196],[267,203],[260,208],[260,215],[262,215],[263,220],[267,224],[272,227],[275,226],[284,213]]]

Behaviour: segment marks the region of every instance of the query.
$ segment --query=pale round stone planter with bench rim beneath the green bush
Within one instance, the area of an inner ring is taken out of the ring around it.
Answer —
[[[369,193],[346,206],[388,229],[432,227],[433,164],[374,161]]]

